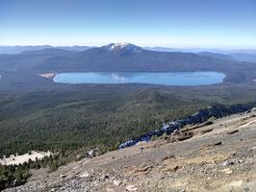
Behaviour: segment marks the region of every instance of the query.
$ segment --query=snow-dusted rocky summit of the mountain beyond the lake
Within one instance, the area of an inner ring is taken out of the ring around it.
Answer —
[[[102,48],[108,51],[125,51],[130,53],[140,53],[142,48],[127,42],[116,42],[104,45]]]

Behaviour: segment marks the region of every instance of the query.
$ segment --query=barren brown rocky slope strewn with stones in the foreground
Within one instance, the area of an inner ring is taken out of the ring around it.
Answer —
[[[5,191],[255,191],[256,111],[186,126],[156,141],[33,171]]]

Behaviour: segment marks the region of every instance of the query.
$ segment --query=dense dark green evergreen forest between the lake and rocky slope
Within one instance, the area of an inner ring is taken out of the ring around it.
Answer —
[[[0,156],[115,148],[215,103],[254,101],[254,85],[77,85],[0,94]]]

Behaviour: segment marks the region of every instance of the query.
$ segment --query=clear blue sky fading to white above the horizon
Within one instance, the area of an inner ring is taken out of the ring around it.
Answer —
[[[0,0],[0,45],[256,48],[256,0]]]

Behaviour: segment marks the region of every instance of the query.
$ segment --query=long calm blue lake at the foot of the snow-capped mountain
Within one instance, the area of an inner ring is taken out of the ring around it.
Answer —
[[[218,72],[72,72],[57,74],[54,83],[63,84],[220,84],[225,75]]]

